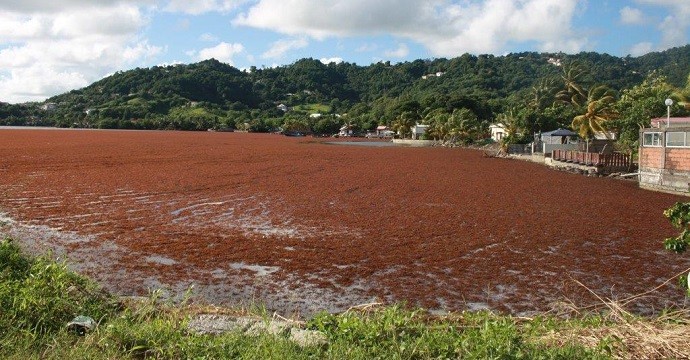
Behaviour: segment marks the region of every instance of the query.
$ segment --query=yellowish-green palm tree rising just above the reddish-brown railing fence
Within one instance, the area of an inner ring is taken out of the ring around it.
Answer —
[[[608,137],[606,122],[618,117],[615,102],[615,92],[606,85],[599,85],[589,90],[586,103],[574,104],[583,113],[573,118],[571,126],[587,140],[588,146],[594,133],[603,132]]]

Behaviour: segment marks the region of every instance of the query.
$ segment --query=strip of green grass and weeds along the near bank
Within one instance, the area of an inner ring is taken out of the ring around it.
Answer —
[[[3,359],[607,359],[688,358],[688,316],[655,319],[610,307],[606,314],[516,318],[489,312],[432,316],[401,306],[360,307],[302,323],[327,343],[300,346],[285,336],[188,330],[201,313],[268,317],[265,311],[136,304],[101,291],[47,256],[28,257],[0,241],[0,358]],[[80,336],[77,315],[98,323]]]

